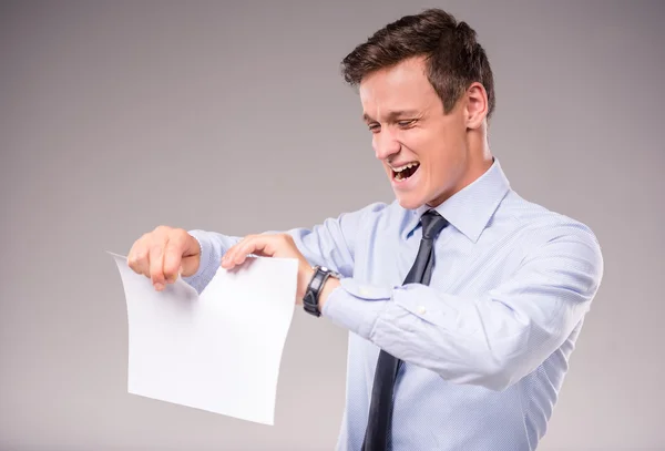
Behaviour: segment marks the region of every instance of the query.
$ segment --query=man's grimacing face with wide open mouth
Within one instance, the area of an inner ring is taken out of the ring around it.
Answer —
[[[437,206],[463,187],[469,166],[463,100],[443,114],[421,58],[362,79],[372,147],[402,207]]]

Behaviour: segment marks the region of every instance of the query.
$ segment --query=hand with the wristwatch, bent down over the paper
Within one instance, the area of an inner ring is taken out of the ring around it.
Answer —
[[[296,294],[296,304],[303,304],[305,291],[307,291],[309,280],[311,279],[311,276],[314,276],[314,268],[305,259],[303,254],[300,254],[290,235],[248,235],[224,254],[222,267],[231,269],[236,265],[242,265],[249,254],[262,257],[298,259],[298,289]]]

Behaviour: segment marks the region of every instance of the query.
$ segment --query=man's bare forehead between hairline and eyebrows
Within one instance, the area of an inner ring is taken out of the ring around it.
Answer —
[[[364,113],[377,119],[396,110],[424,110],[438,100],[421,58],[366,75],[359,93]]]

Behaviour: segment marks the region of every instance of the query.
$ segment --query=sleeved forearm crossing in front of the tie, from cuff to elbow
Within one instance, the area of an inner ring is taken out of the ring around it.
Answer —
[[[320,304],[324,316],[395,357],[454,383],[501,390],[542,363],[589,309],[589,300],[576,296],[540,306],[536,297],[507,296],[451,296],[418,284],[360,287],[342,279],[325,287]]]

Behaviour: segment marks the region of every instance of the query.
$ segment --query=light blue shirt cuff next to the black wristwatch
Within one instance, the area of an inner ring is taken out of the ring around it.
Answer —
[[[339,283],[328,295],[321,314],[336,325],[369,340],[377,319],[390,305],[392,290],[359,284],[350,277]]]

